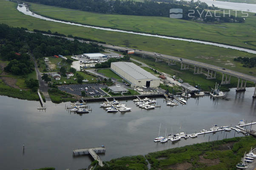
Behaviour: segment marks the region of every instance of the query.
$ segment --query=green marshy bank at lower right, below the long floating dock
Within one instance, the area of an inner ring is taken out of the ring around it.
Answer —
[[[151,164],[151,170],[167,170],[186,162],[191,163],[191,169],[196,170],[230,170],[236,169],[236,164],[241,161],[245,151],[248,153],[255,146],[256,140],[252,136],[245,136],[148,153],[146,158]],[[199,156],[210,160],[218,159],[219,164],[200,163]]]

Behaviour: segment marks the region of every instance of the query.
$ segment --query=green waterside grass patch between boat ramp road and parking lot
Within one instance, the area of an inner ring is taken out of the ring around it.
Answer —
[[[64,91],[60,91],[57,88],[49,89],[48,94],[51,97],[51,101],[54,102],[54,103],[76,102],[77,101],[77,99],[74,98],[73,95],[68,94]]]

